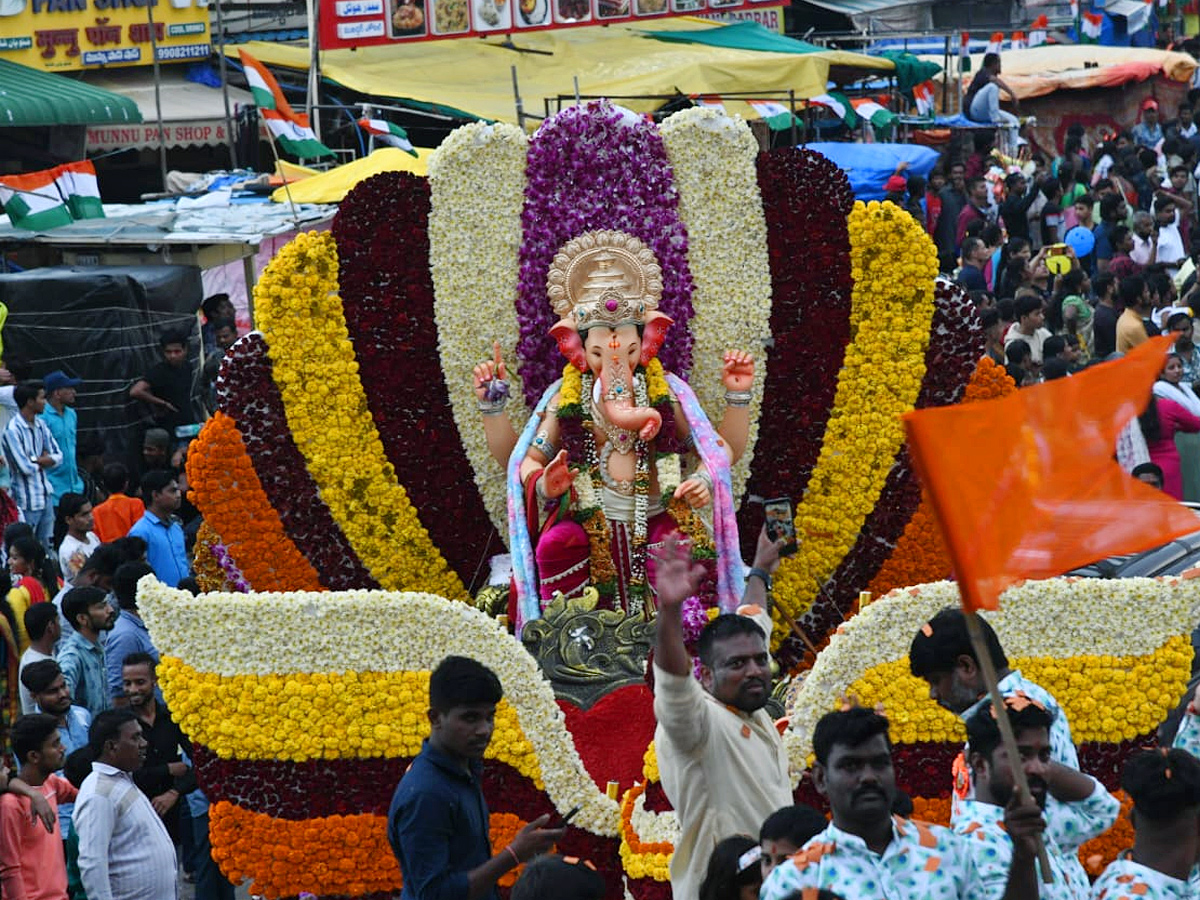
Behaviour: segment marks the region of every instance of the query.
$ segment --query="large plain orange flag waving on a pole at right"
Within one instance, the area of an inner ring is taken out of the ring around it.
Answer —
[[[1194,512],[1114,460],[1146,406],[1170,337],[1000,400],[905,415],[908,451],[967,610],[1003,590],[1196,530]]]

